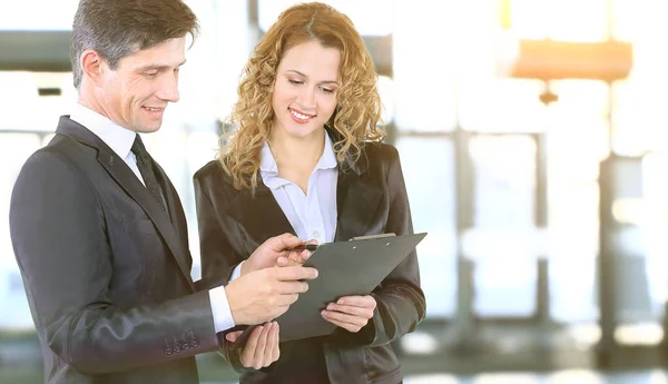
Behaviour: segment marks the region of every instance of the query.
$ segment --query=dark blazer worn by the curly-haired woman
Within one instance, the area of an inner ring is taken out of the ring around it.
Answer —
[[[195,200],[203,278],[229,278],[265,239],[295,233],[272,191],[259,183],[255,196],[237,190],[217,161],[195,174]],[[338,169],[336,242],[355,236],[413,233],[399,154],[367,144],[352,169]],[[402,380],[391,342],[412,332],[425,314],[418,257],[413,252],[374,291],[374,317],[357,334],[343,328],[327,337],[281,344],[268,368],[245,370],[242,383],[396,384]],[[238,355],[227,352],[237,371]]]

